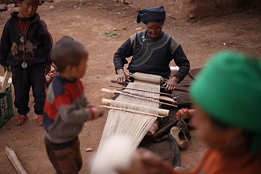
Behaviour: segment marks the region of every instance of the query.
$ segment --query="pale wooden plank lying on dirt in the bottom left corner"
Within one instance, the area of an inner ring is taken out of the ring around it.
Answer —
[[[12,148],[5,147],[5,154],[18,174],[27,174]]]

